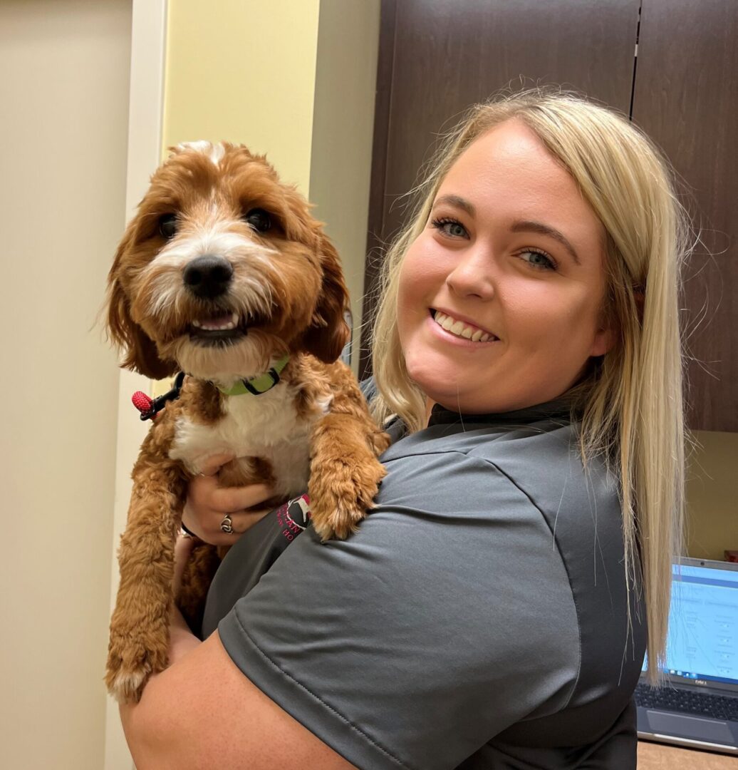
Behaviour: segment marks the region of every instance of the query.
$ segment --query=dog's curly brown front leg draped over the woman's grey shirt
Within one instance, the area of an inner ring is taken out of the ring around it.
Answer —
[[[344,381],[312,434],[308,490],[312,525],[323,541],[356,531],[386,474],[377,457],[388,446],[359,388]]]

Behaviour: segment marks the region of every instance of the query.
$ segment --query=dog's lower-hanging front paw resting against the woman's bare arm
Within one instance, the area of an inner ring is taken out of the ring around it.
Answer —
[[[159,634],[160,635],[160,634]],[[125,641],[123,641],[125,639]],[[108,648],[105,685],[119,703],[136,703],[152,674],[166,668],[168,644],[147,649],[136,634],[112,632]]]

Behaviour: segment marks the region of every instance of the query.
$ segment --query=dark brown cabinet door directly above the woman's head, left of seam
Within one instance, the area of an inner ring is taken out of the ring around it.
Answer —
[[[435,140],[499,89],[555,83],[629,113],[639,0],[383,0],[364,318]],[[361,370],[369,370],[370,327]]]

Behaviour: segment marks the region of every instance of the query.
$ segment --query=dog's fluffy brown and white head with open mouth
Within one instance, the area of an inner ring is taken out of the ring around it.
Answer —
[[[336,249],[296,190],[243,146],[172,150],[109,274],[122,365],[232,381],[285,353],[335,361],[348,340]]]

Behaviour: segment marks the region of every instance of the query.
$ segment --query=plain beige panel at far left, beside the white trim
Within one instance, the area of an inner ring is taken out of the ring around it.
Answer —
[[[99,770],[130,0],[0,2],[0,766]]]

